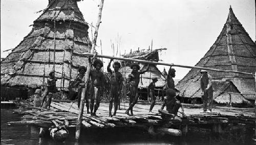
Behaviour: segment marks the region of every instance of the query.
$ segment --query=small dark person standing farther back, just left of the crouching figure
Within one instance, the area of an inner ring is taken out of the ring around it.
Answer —
[[[155,87],[156,87],[156,82],[158,81],[158,79],[156,77],[152,78],[152,82],[150,83],[150,85],[148,85],[147,87],[147,94],[150,96],[151,98],[151,105],[150,105],[150,113],[152,113],[152,109],[156,104],[156,95],[155,95]]]

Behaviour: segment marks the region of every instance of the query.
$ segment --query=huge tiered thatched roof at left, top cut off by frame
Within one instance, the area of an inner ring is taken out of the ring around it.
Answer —
[[[45,80],[53,70],[55,48],[56,85],[68,87],[70,67],[74,79],[78,66],[88,63],[86,57],[79,55],[90,51],[88,28],[76,0],[49,0],[31,32],[1,61],[1,85],[42,85],[44,70]],[[66,77],[61,84],[62,71]]]

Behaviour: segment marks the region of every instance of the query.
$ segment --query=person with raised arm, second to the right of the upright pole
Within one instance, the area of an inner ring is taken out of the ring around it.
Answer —
[[[113,116],[116,115],[116,111],[118,108],[118,101],[119,101],[119,95],[121,94],[121,89],[122,89],[122,83],[123,83],[123,78],[121,72],[119,72],[119,68],[121,67],[121,64],[119,62],[114,62],[113,68],[114,71],[111,70],[110,64],[113,61],[113,59],[110,60],[109,65],[106,67],[106,70],[110,72],[110,83],[111,83],[111,88],[110,88],[110,106],[109,106],[109,116],[112,117],[112,107],[113,107],[113,101],[114,101],[114,114]]]

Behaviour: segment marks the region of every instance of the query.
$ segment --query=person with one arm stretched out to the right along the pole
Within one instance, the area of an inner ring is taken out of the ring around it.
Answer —
[[[133,107],[134,105],[138,102],[138,97],[139,97],[139,91],[138,91],[138,86],[140,82],[140,75],[144,74],[148,69],[150,68],[150,64],[147,65],[146,70],[141,70],[140,66],[138,63],[133,63],[131,65],[132,72],[128,76],[128,83],[129,85],[129,98],[130,98],[130,103],[129,103],[129,108],[125,111],[125,113],[129,116],[133,116]],[[131,114],[129,113],[131,111]]]

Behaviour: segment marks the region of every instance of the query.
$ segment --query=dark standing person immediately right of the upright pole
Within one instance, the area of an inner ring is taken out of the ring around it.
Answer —
[[[100,95],[102,95],[102,88],[103,88],[103,73],[100,70],[103,66],[103,62],[99,59],[96,59],[93,62],[93,66],[95,69],[91,70],[90,77],[91,77],[91,87],[90,87],[90,109],[91,109],[91,116],[96,116],[96,111],[99,108],[100,104]],[[94,101],[96,100],[96,104],[94,105]],[[94,109],[94,110],[93,110]]]

